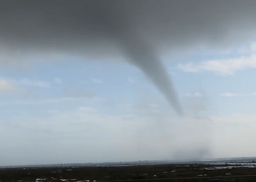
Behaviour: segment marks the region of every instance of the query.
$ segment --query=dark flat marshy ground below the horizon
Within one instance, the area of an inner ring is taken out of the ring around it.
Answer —
[[[2,168],[0,181],[256,181],[256,166],[188,164],[120,167]],[[220,177],[226,176],[226,177]],[[231,177],[240,176],[240,177]],[[196,177],[195,179],[187,179]],[[213,178],[212,178],[213,177]],[[168,180],[167,180],[168,179]],[[151,182],[152,182],[151,181]]]

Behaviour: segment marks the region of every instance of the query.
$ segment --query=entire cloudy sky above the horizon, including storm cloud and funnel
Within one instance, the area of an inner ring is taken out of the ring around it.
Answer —
[[[255,1],[61,2],[0,2],[0,166],[255,156]]]

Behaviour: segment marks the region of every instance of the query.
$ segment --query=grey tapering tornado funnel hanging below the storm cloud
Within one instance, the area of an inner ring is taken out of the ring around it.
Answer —
[[[183,115],[174,86],[163,63],[159,60],[154,47],[141,36],[125,36],[122,39],[123,51],[130,63],[141,71],[156,85],[177,114]]]

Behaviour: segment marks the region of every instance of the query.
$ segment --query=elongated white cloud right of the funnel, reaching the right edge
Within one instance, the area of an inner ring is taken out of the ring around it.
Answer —
[[[233,75],[237,71],[256,68],[256,54],[241,56],[233,59],[216,59],[203,61],[199,64],[179,64],[177,68],[184,72],[210,71],[217,75]]]

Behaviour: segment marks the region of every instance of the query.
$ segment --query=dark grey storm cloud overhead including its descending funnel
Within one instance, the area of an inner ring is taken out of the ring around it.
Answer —
[[[241,43],[253,36],[255,15],[256,1],[2,0],[0,61],[122,53],[181,114],[159,53]]]

